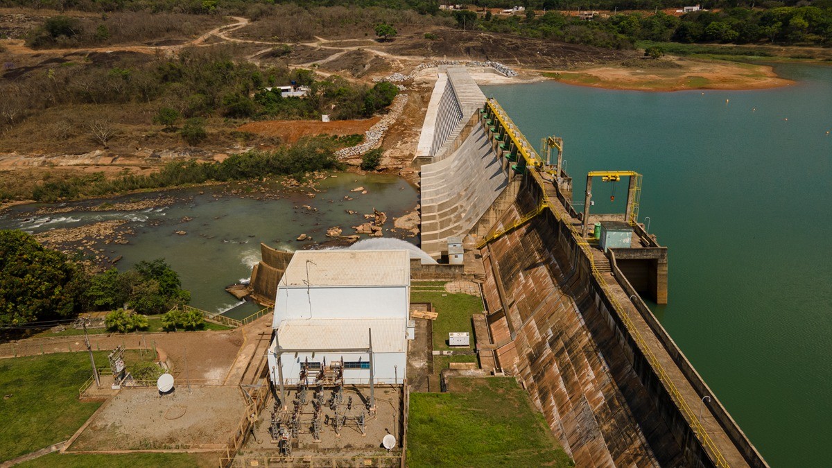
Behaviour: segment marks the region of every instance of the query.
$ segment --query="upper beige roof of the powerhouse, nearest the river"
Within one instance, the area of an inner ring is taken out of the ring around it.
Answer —
[[[307,283],[307,281],[309,281]],[[407,286],[409,251],[295,251],[280,286]]]

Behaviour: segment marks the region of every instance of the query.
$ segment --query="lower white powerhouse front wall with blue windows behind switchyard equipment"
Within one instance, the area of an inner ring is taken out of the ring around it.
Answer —
[[[369,360],[368,353],[295,353],[284,354],[280,362],[283,365],[284,385],[294,386],[298,384],[300,376],[300,363],[309,359],[310,362],[326,361],[327,366],[333,361],[364,361]],[[407,353],[374,353],[374,373],[376,384],[400,384],[407,376]],[[276,371],[277,359],[274,354],[269,354],[269,372],[272,381],[277,385],[279,374]],[[369,369],[344,369],[344,383],[349,385],[369,385]]]

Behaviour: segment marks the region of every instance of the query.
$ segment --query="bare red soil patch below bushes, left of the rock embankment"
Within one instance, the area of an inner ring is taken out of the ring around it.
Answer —
[[[280,137],[283,142],[294,143],[301,137],[314,135],[357,135],[363,134],[379,122],[380,117],[365,120],[339,120],[319,122],[316,120],[268,120],[250,122],[238,128],[240,132],[251,132],[268,137]]]

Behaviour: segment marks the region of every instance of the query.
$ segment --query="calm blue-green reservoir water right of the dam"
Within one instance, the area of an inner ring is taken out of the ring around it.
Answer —
[[[670,303],[652,310],[772,466],[830,466],[832,67],[775,70],[796,84],[483,91],[532,143],[564,138],[576,202],[587,171],[644,174],[640,221],[669,247]],[[623,212],[626,181],[615,202],[593,192],[594,212]]]

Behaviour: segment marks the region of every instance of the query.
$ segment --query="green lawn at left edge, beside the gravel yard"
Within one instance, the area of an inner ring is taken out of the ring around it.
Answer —
[[[108,353],[93,353],[99,368],[107,366]],[[151,354],[127,351],[125,361],[130,366]],[[78,387],[90,376],[87,352],[0,359],[0,395],[10,395],[0,400],[0,461],[69,439],[101,406],[78,400]]]

